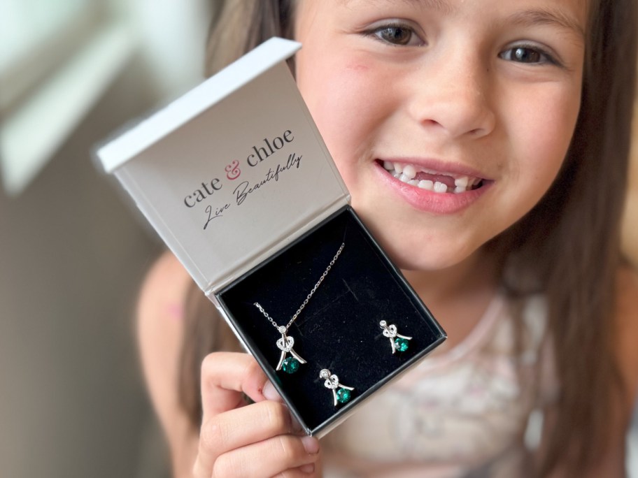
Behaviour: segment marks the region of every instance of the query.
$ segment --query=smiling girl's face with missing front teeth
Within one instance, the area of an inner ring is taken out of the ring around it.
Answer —
[[[300,1],[299,89],[399,266],[460,263],[543,196],[579,113],[586,15],[584,0]]]

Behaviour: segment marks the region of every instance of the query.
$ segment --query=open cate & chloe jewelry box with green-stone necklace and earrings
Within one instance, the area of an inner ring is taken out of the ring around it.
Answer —
[[[350,207],[272,38],[97,150],[322,436],[446,338]]]

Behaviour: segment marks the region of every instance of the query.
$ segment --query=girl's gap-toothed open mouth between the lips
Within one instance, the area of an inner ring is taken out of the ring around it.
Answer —
[[[397,180],[410,186],[434,191],[440,194],[461,194],[483,186],[483,178],[443,173],[422,168],[415,164],[395,163],[393,161],[379,161],[385,171]]]

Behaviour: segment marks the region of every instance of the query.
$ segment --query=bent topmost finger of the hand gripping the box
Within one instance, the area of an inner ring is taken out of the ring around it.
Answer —
[[[265,400],[267,377],[248,354],[215,352],[201,364],[201,405],[204,418],[243,405],[243,393]]]

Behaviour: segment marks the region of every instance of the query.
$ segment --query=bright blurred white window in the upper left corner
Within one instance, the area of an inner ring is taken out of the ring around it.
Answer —
[[[160,97],[202,80],[210,0],[0,0],[0,176],[16,196],[136,50]],[[88,153],[87,153],[88,154]]]

